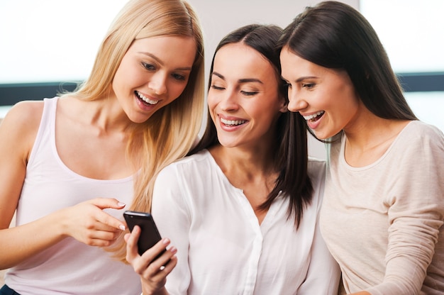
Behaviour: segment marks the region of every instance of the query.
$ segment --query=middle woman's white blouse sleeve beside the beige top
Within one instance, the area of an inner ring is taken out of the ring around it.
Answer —
[[[312,162],[313,163],[313,162]],[[321,235],[319,228],[319,216],[321,213],[321,204],[323,199],[323,190],[325,182],[326,166],[323,162],[318,162],[316,167],[316,176],[311,173],[311,179],[316,179],[313,182],[314,195],[313,201],[317,201],[316,208],[316,225],[313,235],[313,241],[310,251],[310,265],[307,271],[304,283],[299,286],[298,293],[300,295],[337,295],[340,280],[340,268],[338,263],[327,248],[325,241]]]

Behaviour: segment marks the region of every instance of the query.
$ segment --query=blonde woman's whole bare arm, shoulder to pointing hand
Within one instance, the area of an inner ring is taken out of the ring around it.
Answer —
[[[111,245],[121,233],[119,226],[123,226],[101,209],[123,208],[124,204],[115,199],[94,199],[9,228],[42,112],[43,101],[21,102],[0,125],[0,269],[13,267],[67,236],[88,245]]]

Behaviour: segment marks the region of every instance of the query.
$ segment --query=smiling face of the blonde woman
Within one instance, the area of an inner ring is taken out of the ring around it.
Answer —
[[[193,38],[171,35],[138,39],[123,56],[113,93],[128,118],[147,121],[182,94],[196,56]]]

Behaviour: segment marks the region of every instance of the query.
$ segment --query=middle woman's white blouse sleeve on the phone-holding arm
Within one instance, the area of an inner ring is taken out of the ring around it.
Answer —
[[[167,277],[165,284],[170,294],[187,294],[191,280],[188,264],[189,205],[184,196],[183,175],[176,165],[162,169],[157,175],[151,213],[162,238],[169,238],[177,247],[177,265]]]

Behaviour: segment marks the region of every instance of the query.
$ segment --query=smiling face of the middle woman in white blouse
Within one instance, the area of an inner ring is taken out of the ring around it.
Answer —
[[[275,122],[287,111],[275,73],[270,61],[242,43],[225,45],[216,52],[208,105],[221,145],[273,142]]]

